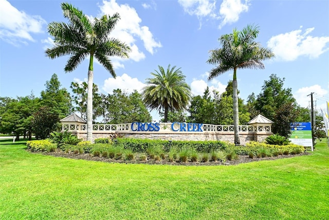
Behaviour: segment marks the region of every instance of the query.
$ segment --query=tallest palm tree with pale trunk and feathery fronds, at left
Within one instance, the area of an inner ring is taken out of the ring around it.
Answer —
[[[115,78],[116,74],[109,57],[128,58],[130,47],[118,39],[109,38],[120,16],[103,15],[90,21],[82,11],[68,3],[61,4],[63,15],[69,22],[52,22],[48,32],[54,37],[54,46],[46,50],[46,56],[54,59],[70,55],[65,72],[75,70],[89,57],[87,92],[87,140],[93,140],[93,78],[94,58]]]

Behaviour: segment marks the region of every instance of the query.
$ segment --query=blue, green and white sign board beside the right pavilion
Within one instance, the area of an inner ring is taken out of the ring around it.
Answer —
[[[310,122],[290,123],[291,135],[289,140],[292,143],[313,147],[312,128]]]

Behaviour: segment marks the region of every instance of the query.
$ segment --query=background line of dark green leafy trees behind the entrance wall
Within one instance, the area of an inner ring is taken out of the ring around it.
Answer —
[[[163,68],[162,68],[163,69]],[[170,71],[173,73],[175,71]],[[167,72],[165,71],[165,76]],[[148,79],[150,80],[150,79]],[[160,82],[166,77],[160,77]],[[153,86],[155,84],[152,84]],[[147,93],[133,91],[127,94],[121,89],[114,89],[112,94],[99,93],[98,86],[93,85],[93,123],[120,124],[131,122],[151,122],[152,116],[143,96]],[[78,112],[86,119],[87,84],[71,82],[72,95],[61,87],[56,74],[45,83],[45,89],[40,97],[33,93],[25,97],[0,97],[0,133],[31,138],[32,134],[43,139],[52,131],[61,129],[59,120],[73,112]],[[144,90],[147,90],[146,87]],[[159,89],[161,90],[161,89]],[[165,117],[165,106],[158,106],[160,121],[190,122],[205,124],[231,125],[233,123],[232,81],[229,81],[224,93],[204,91],[202,96],[192,96],[184,108],[170,105]],[[239,94],[238,90],[238,94]],[[167,98],[170,96],[164,95]],[[246,103],[239,98],[239,124],[246,125],[248,121],[262,114],[274,123],[272,131],[275,134],[287,136],[290,122],[310,121],[310,111],[300,107],[291,88],[284,88],[284,79],[272,74],[264,81],[261,93],[251,94]],[[316,136],[322,137],[321,115],[316,112]]]

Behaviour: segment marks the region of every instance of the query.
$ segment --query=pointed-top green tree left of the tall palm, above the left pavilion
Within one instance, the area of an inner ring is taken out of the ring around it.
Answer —
[[[52,114],[65,118],[72,112],[71,97],[66,88],[61,88],[61,83],[56,74],[46,81],[46,89],[41,91],[41,105],[47,106]]]

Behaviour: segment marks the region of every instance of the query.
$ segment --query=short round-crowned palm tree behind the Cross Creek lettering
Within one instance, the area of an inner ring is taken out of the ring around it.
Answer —
[[[154,78],[146,79],[146,84],[142,90],[143,102],[151,110],[165,110],[165,122],[168,122],[168,110],[186,109],[191,99],[191,88],[185,82],[185,76],[180,68],[176,66],[170,68],[168,65],[167,71],[162,66],[158,66],[159,71],[151,72]]]

